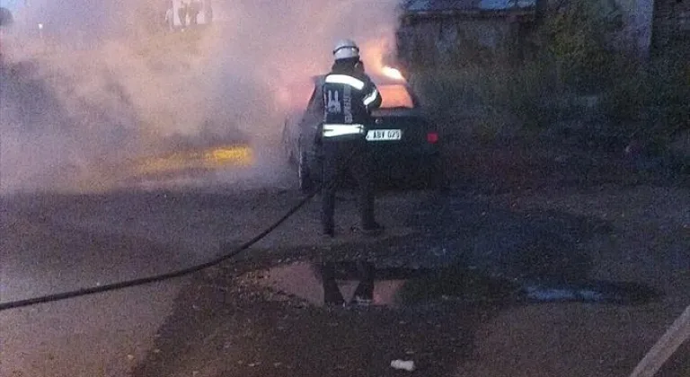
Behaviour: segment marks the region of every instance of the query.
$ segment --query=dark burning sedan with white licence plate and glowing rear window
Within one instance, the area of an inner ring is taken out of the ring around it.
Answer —
[[[375,156],[378,183],[421,183],[438,189],[444,171],[440,159],[437,129],[425,118],[420,102],[403,80],[372,77],[383,102],[373,112],[376,119],[369,126],[367,141]],[[323,76],[313,78],[314,89],[306,109],[285,121],[283,145],[288,159],[296,166],[299,187],[314,189],[321,181],[321,153],[314,145],[314,136],[323,118],[320,106]]]

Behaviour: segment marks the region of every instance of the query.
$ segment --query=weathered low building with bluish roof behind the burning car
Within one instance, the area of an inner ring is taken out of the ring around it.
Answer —
[[[477,63],[519,54],[536,0],[411,0],[397,33],[403,66]],[[461,52],[462,53],[459,53]]]

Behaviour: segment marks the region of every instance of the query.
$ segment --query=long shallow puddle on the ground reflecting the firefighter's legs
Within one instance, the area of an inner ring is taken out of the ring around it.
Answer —
[[[314,305],[401,306],[448,301],[634,304],[659,297],[652,288],[634,283],[517,283],[482,276],[463,266],[376,267],[365,261],[273,267],[258,282]]]

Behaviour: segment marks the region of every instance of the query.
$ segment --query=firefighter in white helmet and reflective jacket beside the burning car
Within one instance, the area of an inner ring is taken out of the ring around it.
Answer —
[[[371,110],[381,105],[376,85],[364,73],[359,48],[343,39],[333,48],[335,62],[323,78],[323,123],[317,143],[323,151],[323,233],[335,234],[335,193],[346,172],[358,184],[360,225],[366,234],[378,234],[383,227],[374,217],[372,158],[367,145]]]

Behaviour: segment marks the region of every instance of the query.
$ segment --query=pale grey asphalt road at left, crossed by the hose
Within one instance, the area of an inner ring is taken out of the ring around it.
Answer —
[[[280,187],[280,171],[259,174],[230,167],[184,185],[149,179],[101,194],[2,197],[0,302],[216,258],[221,245],[246,241],[300,198]],[[270,199],[283,192],[289,199]],[[0,375],[128,375],[186,280],[0,312]]]

